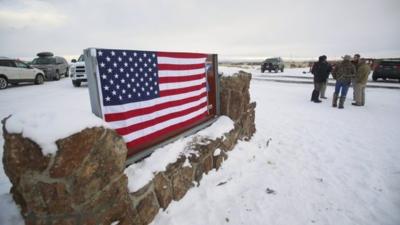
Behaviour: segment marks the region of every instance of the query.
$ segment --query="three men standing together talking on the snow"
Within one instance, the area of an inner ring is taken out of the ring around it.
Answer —
[[[319,98],[327,99],[325,96],[326,84],[329,74],[332,73],[333,78],[336,80],[332,107],[338,107],[339,101],[338,108],[344,108],[350,85],[353,86],[354,102],[352,105],[365,105],[365,87],[371,68],[366,64],[365,59],[360,58],[359,54],[355,54],[353,58],[350,55],[345,55],[342,59],[333,69],[325,55],[320,56],[318,62],[314,63],[311,68],[311,73],[314,75],[314,90],[311,94],[311,101],[320,103],[321,100]]]

